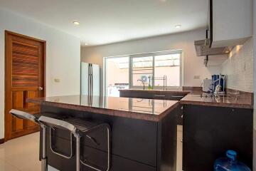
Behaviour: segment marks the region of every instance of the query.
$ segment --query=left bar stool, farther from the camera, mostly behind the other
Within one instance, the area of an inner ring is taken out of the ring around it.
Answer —
[[[40,118],[42,115],[46,115],[48,117],[51,118],[61,118],[59,115],[56,115],[54,113],[38,113],[38,114],[34,114],[31,115],[29,113],[23,112],[21,110],[15,110],[15,109],[11,109],[9,111],[9,113],[11,113],[11,115],[14,115],[16,118],[20,118],[23,120],[31,120],[34,123],[37,123],[38,125],[41,126],[42,130],[43,130],[43,143],[42,143],[42,158],[41,158],[41,170],[42,171],[47,171],[47,158],[46,158],[46,125],[43,125],[43,123],[40,123],[38,121],[38,118]]]

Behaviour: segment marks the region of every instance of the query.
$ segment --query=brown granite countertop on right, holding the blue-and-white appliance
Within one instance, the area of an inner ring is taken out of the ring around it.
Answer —
[[[253,108],[252,93],[241,93],[235,95],[211,95],[210,93],[189,93],[180,100],[181,104],[209,105],[229,108]]]

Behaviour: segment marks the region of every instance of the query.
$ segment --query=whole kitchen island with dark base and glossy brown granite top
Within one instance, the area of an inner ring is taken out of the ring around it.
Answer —
[[[108,123],[111,127],[110,170],[176,170],[178,101],[87,95],[31,98],[27,101],[41,105],[41,112]],[[69,134],[55,129],[53,136],[55,148],[68,154]],[[90,137],[99,142],[97,144],[88,138],[82,139],[82,157],[102,170],[107,168],[106,136],[104,131],[90,133]],[[49,145],[49,130],[46,139],[48,165],[61,171],[75,170],[75,155],[71,159],[55,155]],[[92,170],[85,165],[81,168]]]

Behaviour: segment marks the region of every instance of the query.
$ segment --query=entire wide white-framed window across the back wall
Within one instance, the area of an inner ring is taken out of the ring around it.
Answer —
[[[119,89],[179,88],[182,51],[164,51],[105,58],[105,95],[119,96]],[[139,81],[141,80],[141,81]]]

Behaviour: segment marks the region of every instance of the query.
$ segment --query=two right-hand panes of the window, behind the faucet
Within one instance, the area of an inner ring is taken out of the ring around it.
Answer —
[[[182,51],[164,51],[130,56],[130,87],[178,88],[181,86]]]

